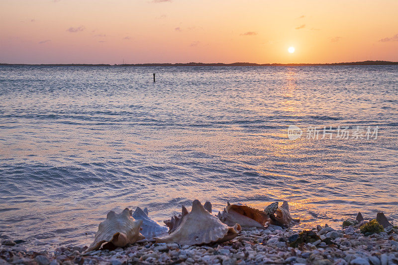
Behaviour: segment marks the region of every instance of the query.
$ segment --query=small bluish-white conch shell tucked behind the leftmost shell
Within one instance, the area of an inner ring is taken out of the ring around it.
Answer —
[[[149,218],[147,208],[142,210],[140,207],[137,207],[133,213],[133,218],[135,220],[142,220],[141,234],[148,240],[154,237],[163,236],[167,234],[167,231],[169,230],[167,227],[161,226],[156,221]]]

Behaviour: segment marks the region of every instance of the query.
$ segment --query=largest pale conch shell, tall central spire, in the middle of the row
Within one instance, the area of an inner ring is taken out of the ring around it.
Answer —
[[[229,227],[211,215],[194,200],[192,210],[182,218],[180,225],[170,234],[157,238],[157,243],[178,243],[181,245],[200,245],[211,242],[225,242],[233,239],[241,231],[239,224]]]

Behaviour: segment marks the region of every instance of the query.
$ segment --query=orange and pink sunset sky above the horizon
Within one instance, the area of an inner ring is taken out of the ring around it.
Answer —
[[[0,0],[0,62],[398,61],[397,11],[397,0]]]

